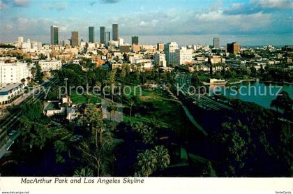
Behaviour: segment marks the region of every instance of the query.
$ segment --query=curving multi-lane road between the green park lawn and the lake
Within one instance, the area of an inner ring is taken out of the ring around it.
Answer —
[[[189,87],[193,86],[191,83],[191,77],[192,75],[186,75],[185,73],[178,73],[176,75],[176,81],[180,88],[179,91],[181,91],[184,96],[192,98],[196,105],[202,107],[205,110],[232,110],[231,107],[222,103],[218,103],[216,100],[204,96],[204,94],[195,94],[193,88],[190,88],[188,91]]]

